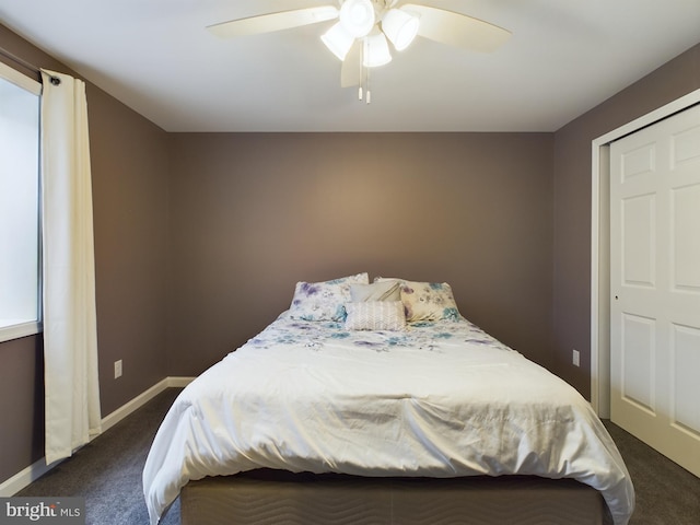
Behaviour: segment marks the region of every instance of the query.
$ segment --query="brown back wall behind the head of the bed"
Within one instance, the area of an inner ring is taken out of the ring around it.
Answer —
[[[221,359],[299,280],[447,281],[549,364],[551,133],[174,136],[170,373]]]

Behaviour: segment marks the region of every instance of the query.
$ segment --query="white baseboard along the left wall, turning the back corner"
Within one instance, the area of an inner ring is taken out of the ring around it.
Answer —
[[[156,383],[151,388],[145,390],[142,394],[139,394],[137,397],[131,399],[126,405],[117,408],[114,412],[108,416],[102,418],[102,431],[105,432],[124,418],[135,412],[143,405],[149,402],[155,396],[161,394],[167,388],[184,388],[189,383],[191,383],[194,377],[165,377],[163,381]],[[96,436],[95,436],[96,438]],[[25,469],[19,471],[10,479],[4,480],[0,483],[0,498],[9,498],[11,495],[16,494],[20,490],[27,487],[33,481],[37,480],[39,477],[44,476],[51,468],[58,465],[59,462],[55,462],[50,465],[46,465],[45,458],[39,459],[38,462],[30,465]]]

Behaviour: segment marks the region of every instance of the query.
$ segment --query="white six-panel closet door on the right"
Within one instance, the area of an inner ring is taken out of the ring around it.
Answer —
[[[700,476],[700,106],[610,145],[610,418]]]

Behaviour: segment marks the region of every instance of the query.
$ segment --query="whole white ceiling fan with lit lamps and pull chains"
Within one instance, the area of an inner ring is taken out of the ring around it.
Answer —
[[[335,5],[279,11],[231,20],[207,27],[223,38],[301,27],[337,20],[320,37],[342,61],[340,84],[359,85],[359,98],[371,102],[369,70],[392,60],[395,50],[406,49],[416,36],[464,49],[491,52],[511,36],[508,30],[466,14],[404,3],[401,0],[338,0]],[[363,89],[364,88],[364,89]]]

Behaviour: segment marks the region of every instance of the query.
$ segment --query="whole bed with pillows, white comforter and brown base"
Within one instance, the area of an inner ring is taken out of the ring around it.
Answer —
[[[366,273],[299,282],[288,311],[189,384],[143,490],[152,525],[180,491],[183,525],[538,523],[562,505],[570,523],[623,525],[634,506],[575,389],[464,318],[450,284]]]

